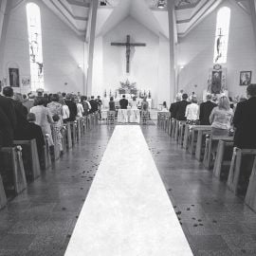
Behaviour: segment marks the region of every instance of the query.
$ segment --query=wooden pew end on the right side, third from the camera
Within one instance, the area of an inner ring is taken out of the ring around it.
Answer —
[[[232,159],[233,142],[220,140],[218,144],[217,154],[214,161],[213,175],[218,179],[221,178],[221,174],[229,168]]]

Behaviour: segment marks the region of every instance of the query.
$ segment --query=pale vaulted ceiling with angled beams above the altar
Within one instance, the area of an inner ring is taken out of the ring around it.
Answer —
[[[43,0],[69,27],[85,36],[92,0]],[[167,1],[167,0],[165,0]],[[175,0],[177,37],[185,36],[224,0]],[[232,0],[249,13],[247,0]],[[169,37],[167,9],[158,9],[157,0],[99,1],[96,35],[104,34],[127,16],[157,34]],[[105,5],[101,5],[105,2]]]

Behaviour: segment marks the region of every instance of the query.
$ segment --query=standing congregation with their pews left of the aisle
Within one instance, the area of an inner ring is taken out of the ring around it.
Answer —
[[[0,95],[0,209],[27,189],[99,120],[101,100],[57,93]]]

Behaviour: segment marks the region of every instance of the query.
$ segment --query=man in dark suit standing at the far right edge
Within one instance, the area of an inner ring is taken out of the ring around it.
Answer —
[[[234,146],[241,149],[256,149],[256,83],[247,86],[247,101],[237,104],[233,124]]]

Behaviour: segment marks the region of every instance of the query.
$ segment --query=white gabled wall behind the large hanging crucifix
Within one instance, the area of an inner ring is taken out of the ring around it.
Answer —
[[[112,42],[125,42],[127,34],[131,35],[131,43],[146,44],[145,47],[132,48],[129,75],[126,74],[125,46],[110,45]],[[102,65],[96,60],[102,60]],[[170,101],[168,41],[130,16],[103,35],[102,40],[96,39],[94,64],[94,94],[103,95],[105,90],[114,94],[119,82],[128,78],[130,82],[137,82],[138,90],[151,91],[155,106],[162,101]]]

